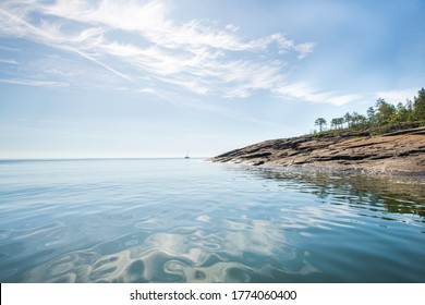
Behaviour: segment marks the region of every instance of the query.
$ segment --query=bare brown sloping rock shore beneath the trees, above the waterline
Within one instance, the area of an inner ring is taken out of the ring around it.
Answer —
[[[378,136],[347,133],[269,139],[209,160],[251,166],[425,175],[425,127]]]

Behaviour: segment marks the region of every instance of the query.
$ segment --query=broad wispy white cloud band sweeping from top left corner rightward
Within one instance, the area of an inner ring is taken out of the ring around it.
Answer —
[[[0,16],[1,36],[77,56],[136,90],[243,98],[262,89],[335,105],[356,99],[288,81],[286,57],[303,60],[314,50],[312,41],[298,44],[280,33],[247,39],[232,24],[205,20],[178,23],[157,0],[7,0]],[[63,83],[75,82],[65,74]]]

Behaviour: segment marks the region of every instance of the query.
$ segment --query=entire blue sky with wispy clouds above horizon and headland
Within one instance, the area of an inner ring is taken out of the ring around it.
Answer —
[[[1,0],[0,158],[211,157],[425,86],[425,2]]]

